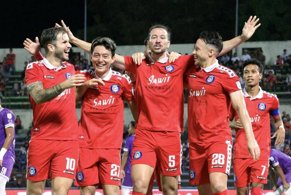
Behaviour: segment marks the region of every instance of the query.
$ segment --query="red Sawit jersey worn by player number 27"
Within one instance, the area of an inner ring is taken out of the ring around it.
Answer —
[[[81,71],[88,79],[95,71]],[[121,148],[123,100],[132,101],[132,83],[127,75],[110,69],[105,86],[88,88],[82,99],[79,145],[82,148]]]

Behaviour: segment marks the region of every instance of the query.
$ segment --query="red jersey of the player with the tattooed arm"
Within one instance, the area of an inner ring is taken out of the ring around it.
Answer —
[[[29,63],[25,72],[25,83],[42,82],[43,88],[51,88],[75,75],[74,65],[63,62],[61,68],[43,59]],[[75,110],[75,88],[65,89],[54,99],[36,104],[31,95],[33,128],[31,139],[77,140],[78,123]]]

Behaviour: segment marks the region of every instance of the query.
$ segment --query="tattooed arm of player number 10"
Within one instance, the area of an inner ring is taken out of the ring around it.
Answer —
[[[42,82],[36,81],[27,85],[27,91],[37,104],[41,104],[54,99],[57,95],[62,93],[63,89],[60,84],[44,89]]]

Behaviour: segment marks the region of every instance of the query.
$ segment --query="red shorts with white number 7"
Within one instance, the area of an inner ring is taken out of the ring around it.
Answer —
[[[234,158],[233,173],[236,187],[245,187],[251,182],[266,184],[269,170],[269,157]]]

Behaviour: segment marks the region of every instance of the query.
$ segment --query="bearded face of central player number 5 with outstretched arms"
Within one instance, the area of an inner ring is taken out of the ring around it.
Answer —
[[[156,28],[150,31],[149,49],[152,53],[163,54],[169,46],[170,41],[165,29]]]

